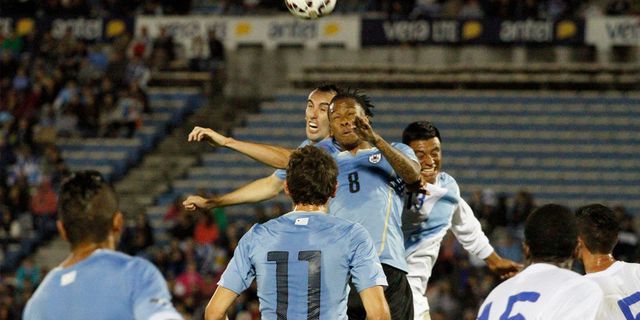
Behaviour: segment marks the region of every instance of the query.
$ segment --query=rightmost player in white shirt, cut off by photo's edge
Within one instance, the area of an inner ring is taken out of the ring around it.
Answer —
[[[604,292],[598,319],[640,319],[640,264],[616,261],[620,225],[613,210],[590,204],[576,210],[580,259],[586,277]]]

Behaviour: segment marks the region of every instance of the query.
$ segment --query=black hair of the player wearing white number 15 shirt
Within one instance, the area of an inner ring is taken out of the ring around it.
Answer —
[[[527,218],[524,241],[533,260],[564,262],[573,257],[578,242],[576,217],[565,206],[544,205]]]

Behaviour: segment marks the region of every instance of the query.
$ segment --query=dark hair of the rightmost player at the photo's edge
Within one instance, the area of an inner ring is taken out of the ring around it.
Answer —
[[[609,254],[618,243],[620,224],[613,210],[590,204],[576,210],[578,231],[585,246],[592,253]]]

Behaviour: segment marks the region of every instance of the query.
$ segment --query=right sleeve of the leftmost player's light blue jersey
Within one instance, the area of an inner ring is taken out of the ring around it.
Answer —
[[[141,258],[135,259],[132,264],[135,319],[182,319],[171,304],[171,294],[160,271]]]

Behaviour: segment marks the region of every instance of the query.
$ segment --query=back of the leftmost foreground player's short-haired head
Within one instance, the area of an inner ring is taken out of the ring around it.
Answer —
[[[58,219],[72,248],[105,241],[117,211],[118,197],[97,171],[73,173],[60,186]]]

